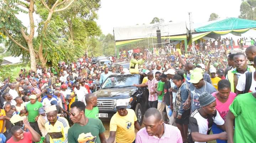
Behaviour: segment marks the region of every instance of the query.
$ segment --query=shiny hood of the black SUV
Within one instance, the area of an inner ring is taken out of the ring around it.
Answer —
[[[126,88],[109,88],[100,89],[93,94],[97,96],[98,99],[111,98],[111,99],[122,99],[131,97],[137,91],[137,87],[126,87]]]

